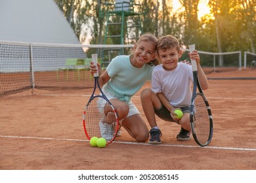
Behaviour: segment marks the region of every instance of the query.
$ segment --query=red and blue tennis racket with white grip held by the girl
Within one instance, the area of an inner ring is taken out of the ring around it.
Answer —
[[[92,59],[97,65],[98,55],[92,54]],[[93,93],[85,106],[83,112],[83,128],[87,139],[92,137],[102,137],[110,144],[116,138],[118,129],[118,118],[112,103],[102,92],[98,84],[98,73],[94,73],[95,86]],[[100,95],[95,92],[98,89]]]

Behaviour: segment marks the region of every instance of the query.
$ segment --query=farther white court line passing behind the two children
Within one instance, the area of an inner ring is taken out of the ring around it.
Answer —
[[[38,94],[35,94],[38,95]],[[81,94],[39,94],[41,96],[58,96],[58,97],[91,97],[91,95]],[[133,97],[140,97],[140,95],[133,95]],[[226,100],[256,100],[256,97],[252,98],[241,98],[241,97],[207,97],[207,99],[226,99]]]

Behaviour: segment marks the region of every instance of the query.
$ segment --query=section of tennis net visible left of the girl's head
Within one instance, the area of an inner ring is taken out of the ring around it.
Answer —
[[[120,50],[129,54],[132,46],[0,41],[0,97],[33,89],[93,88],[91,54],[99,55],[104,69]],[[108,54],[102,55],[103,50]]]

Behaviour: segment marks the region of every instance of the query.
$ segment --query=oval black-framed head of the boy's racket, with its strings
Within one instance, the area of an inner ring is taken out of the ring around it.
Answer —
[[[213,137],[213,117],[211,108],[203,93],[196,93],[190,106],[192,135],[200,146],[207,146]]]

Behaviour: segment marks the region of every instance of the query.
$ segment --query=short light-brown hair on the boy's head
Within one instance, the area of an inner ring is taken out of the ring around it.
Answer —
[[[158,39],[158,44],[156,48],[157,51],[160,49],[165,51],[168,48],[176,48],[178,52],[180,51],[179,41],[173,35],[165,35],[163,37],[160,37],[160,39]]]

